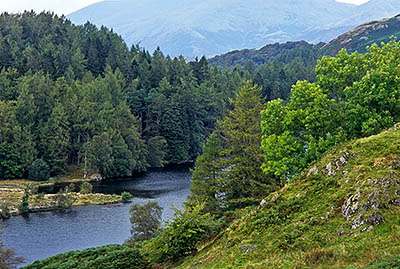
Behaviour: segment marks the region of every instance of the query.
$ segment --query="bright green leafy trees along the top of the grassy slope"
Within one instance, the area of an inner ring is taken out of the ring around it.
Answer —
[[[287,105],[269,102],[261,123],[264,172],[286,182],[332,146],[400,121],[399,55],[391,41],[364,55],[323,57],[315,83],[298,82]]]

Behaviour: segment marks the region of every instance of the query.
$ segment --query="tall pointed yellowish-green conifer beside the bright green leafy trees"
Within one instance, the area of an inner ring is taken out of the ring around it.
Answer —
[[[191,200],[206,209],[245,207],[257,203],[277,185],[261,170],[261,89],[246,82],[232,101],[233,109],[209,137],[193,172]]]

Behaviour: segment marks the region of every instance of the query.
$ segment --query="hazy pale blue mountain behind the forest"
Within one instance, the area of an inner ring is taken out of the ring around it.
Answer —
[[[128,45],[194,57],[290,40],[327,42],[362,22],[397,13],[398,0],[361,6],[335,0],[115,0],[68,18],[113,28]]]

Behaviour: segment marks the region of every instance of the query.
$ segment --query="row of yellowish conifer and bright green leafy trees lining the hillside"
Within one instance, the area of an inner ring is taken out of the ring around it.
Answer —
[[[289,100],[264,102],[247,84],[198,158],[190,203],[219,215],[257,204],[329,149],[400,121],[400,42],[368,53],[323,57],[316,81],[299,81]]]

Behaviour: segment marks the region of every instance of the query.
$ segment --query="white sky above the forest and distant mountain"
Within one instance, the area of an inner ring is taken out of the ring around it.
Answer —
[[[40,12],[43,10],[53,11],[59,15],[70,14],[80,8],[90,4],[101,2],[103,0],[0,0],[0,12],[7,11],[9,13],[23,12],[31,10]],[[138,0],[146,1],[146,0]],[[302,1],[302,0],[299,0]],[[362,4],[368,0],[337,0],[340,2]]]

